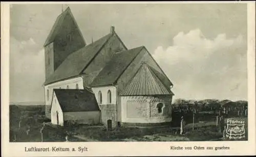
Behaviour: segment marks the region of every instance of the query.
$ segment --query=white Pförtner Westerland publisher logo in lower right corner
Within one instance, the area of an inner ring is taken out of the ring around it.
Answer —
[[[245,139],[245,121],[227,119],[226,137],[229,139]]]

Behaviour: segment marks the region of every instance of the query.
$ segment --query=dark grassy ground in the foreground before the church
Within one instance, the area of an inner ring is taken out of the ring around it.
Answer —
[[[180,127],[119,127],[106,131],[102,125],[57,127],[46,123],[42,134],[41,109],[44,106],[10,107],[10,142],[64,142],[68,134],[69,141],[222,141],[223,133],[216,127],[215,121],[205,121],[185,126],[180,135]],[[247,118],[240,118],[247,122]],[[19,122],[20,121],[20,127]],[[247,127],[246,127],[247,128]],[[27,131],[29,130],[29,131]],[[42,136],[42,137],[41,137]],[[246,139],[247,140],[247,130]]]

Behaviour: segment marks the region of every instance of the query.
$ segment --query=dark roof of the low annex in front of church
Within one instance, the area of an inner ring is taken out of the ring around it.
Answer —
[[[95,95],[87,89],[53,89],[62,112],[99,111]]]

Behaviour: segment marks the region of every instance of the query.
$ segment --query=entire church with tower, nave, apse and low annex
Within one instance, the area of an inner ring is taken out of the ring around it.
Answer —
[[[173,83],[144,47],[127,49],[112,26],[88,44],[67,8],[44,44],[46,117],[112,127],[172,121]]]

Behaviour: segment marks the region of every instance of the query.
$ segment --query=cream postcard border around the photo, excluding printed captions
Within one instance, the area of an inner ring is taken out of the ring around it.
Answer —
[[[25,142],[9,143],[9,5],[28,2],[1,3],[1,136],[2,156],[177,156],[177,155],[255,155],[255,3],[254,2],[207,2],[207,3],[246,3],[248,34],[248,141],[221,142]],[[30,4],[86,3],[86,2],[33,2]],[[88,2],[87,2],[88,3]],[[90,4],[106,2],[90,2]],[[205,3],[205,2],[107,2],[122,4],[138,3]],[[86,146],[88,152],[25,152],[26,147],[78,147]],[[229,150],[170,150],[170,146],[227,146]]]

